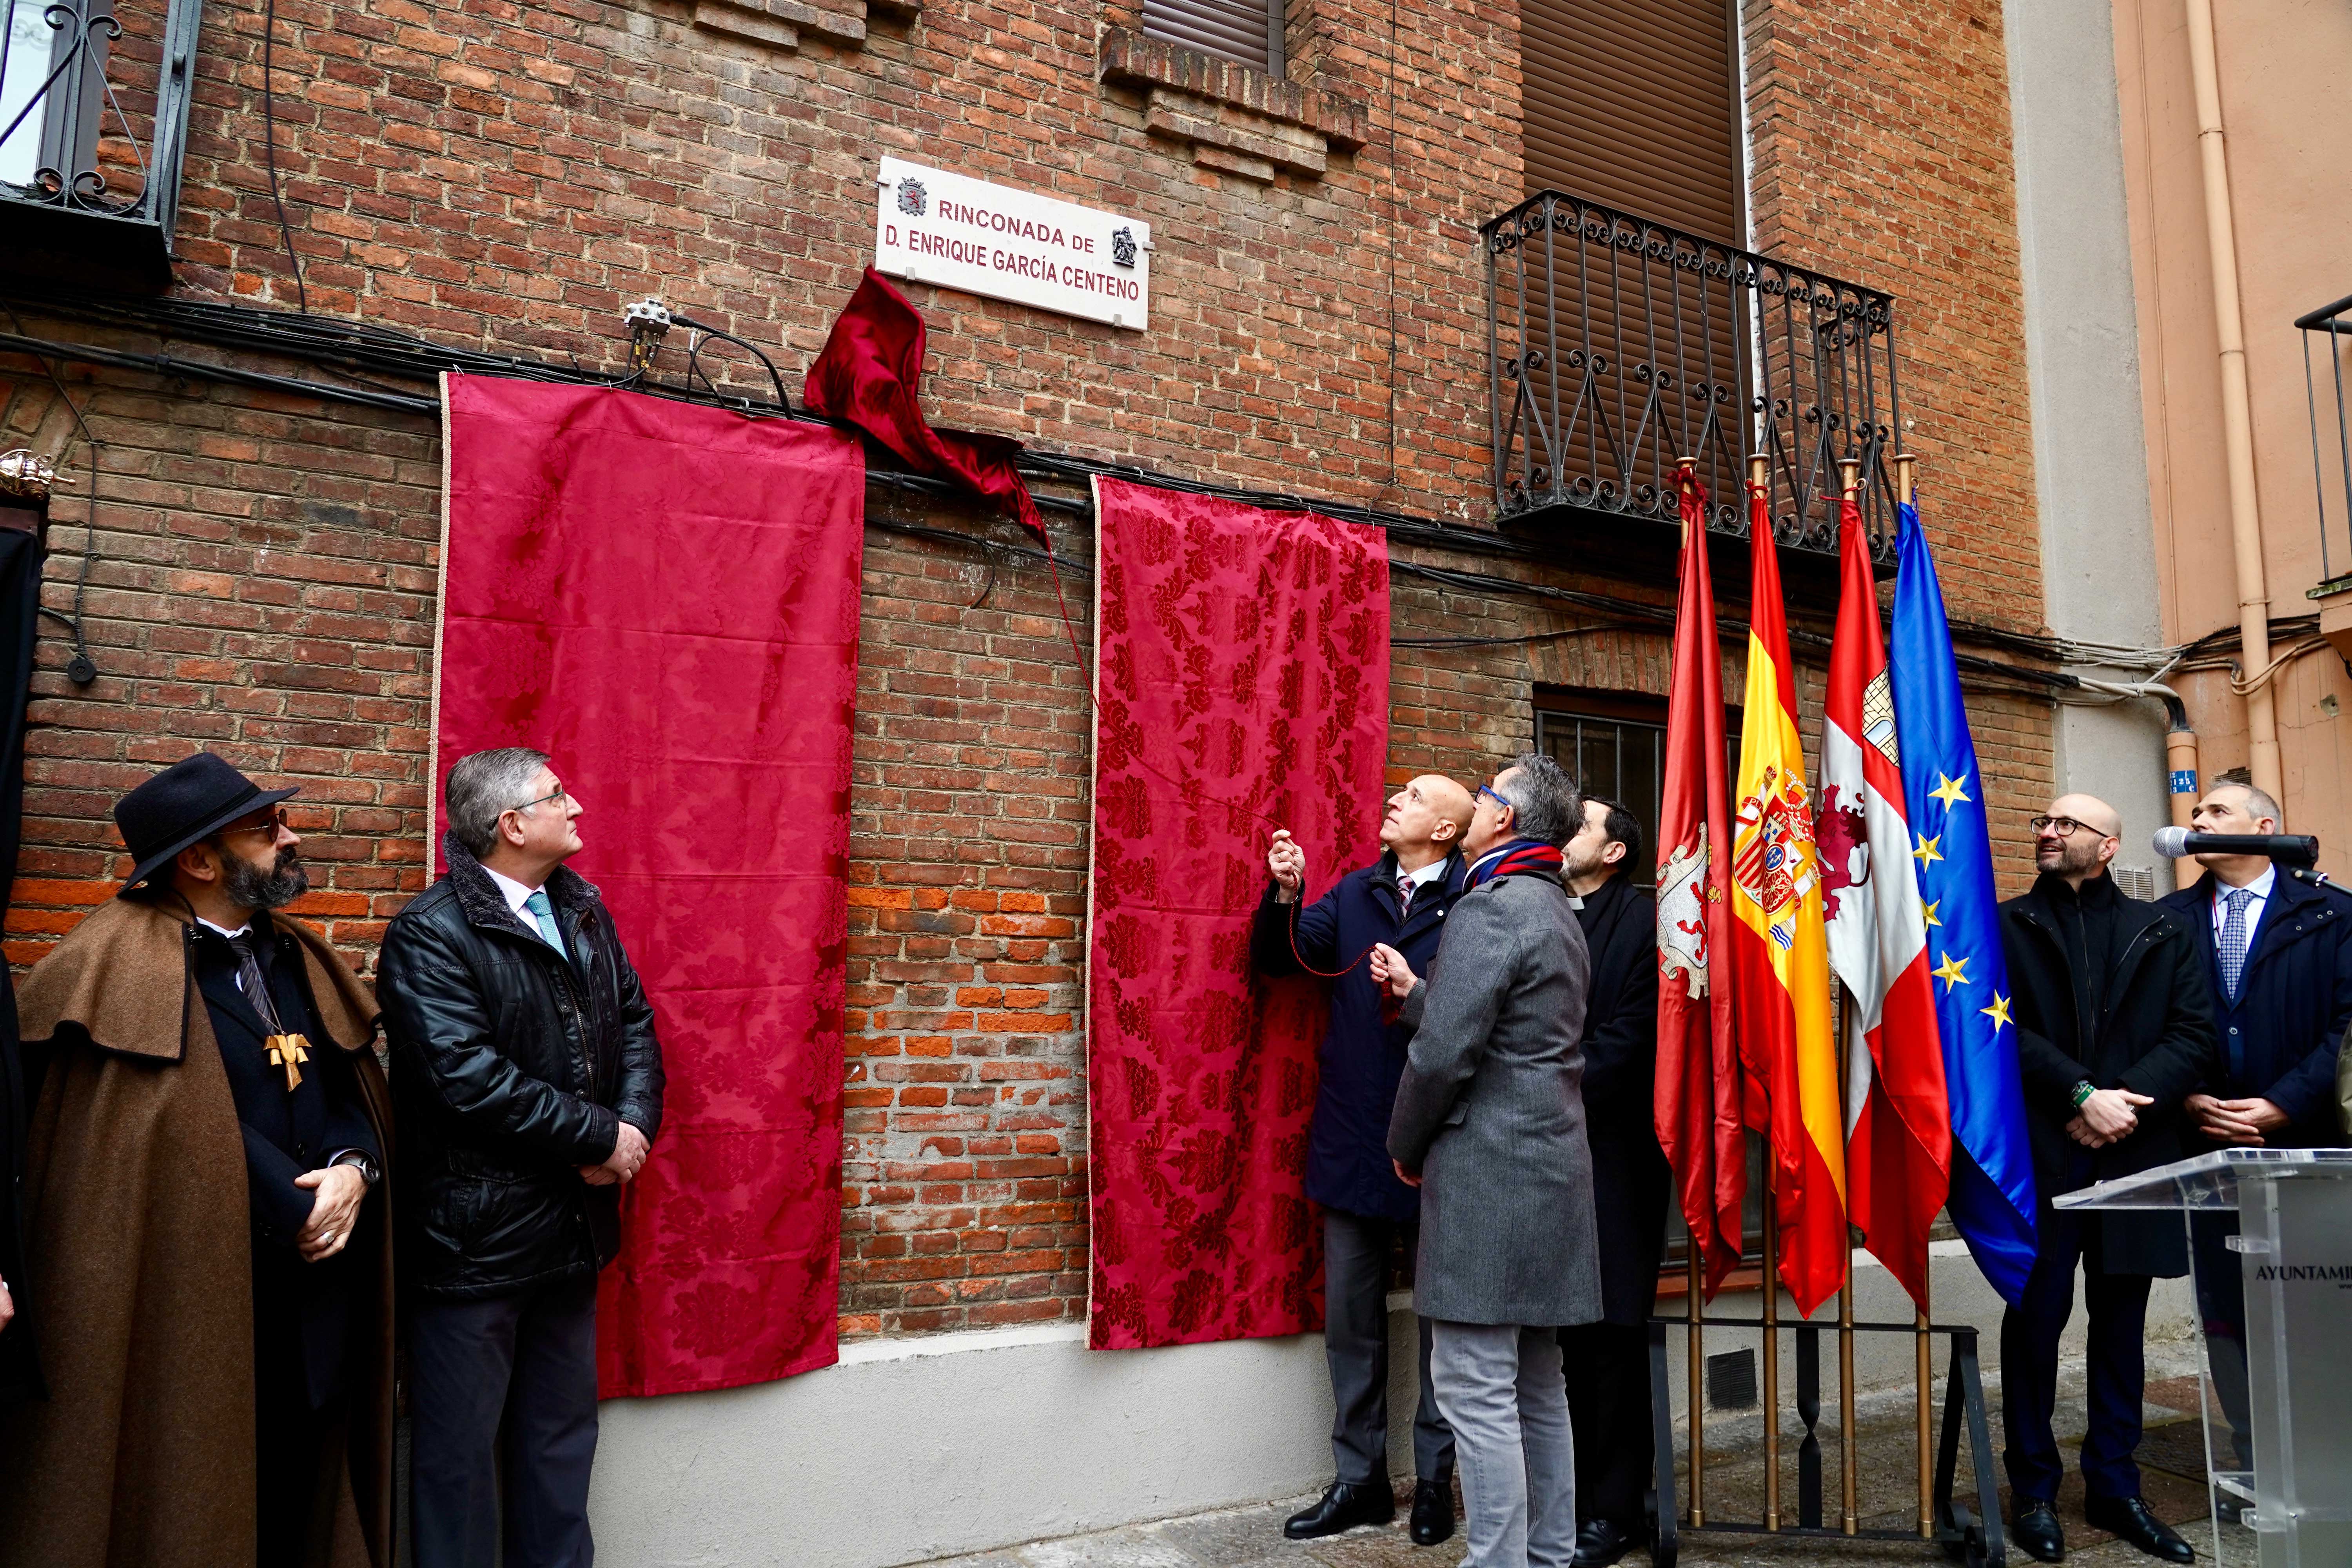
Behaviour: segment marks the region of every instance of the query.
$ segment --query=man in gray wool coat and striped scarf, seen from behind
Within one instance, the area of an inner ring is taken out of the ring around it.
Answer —
[[[1435,1326],[1454,1427],[1463,1568],[1566,1568],[1576,1453],[1557,1331],[1602,1316],[1585,1145],[1590,959],[1559,882],[1583,802],[1526,752],[1477,792],[1468,889],[1423,983],[1395,947],[1371,976],[1414,1027],[1388,1154],[1421,1187],[1414,1309]]]

